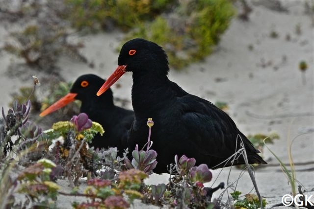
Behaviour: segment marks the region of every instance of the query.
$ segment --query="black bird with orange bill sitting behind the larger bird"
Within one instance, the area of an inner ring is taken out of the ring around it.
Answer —
[[[78,99],[81,101],[80,112],[86,113],[92,121],[100,123],[105,129],[105,134],[97,135],[92,140],[91,146],[95,148],[117,147],[121,156],[124,149],[128,147],[127,132],[134,120],[134,112],[115,106],[111,89],[108,89],[102,96],[96,96],[104,82],[104,79],[94,74],[78,77],[70,93],[52,104],[40,116],[46,116]]]

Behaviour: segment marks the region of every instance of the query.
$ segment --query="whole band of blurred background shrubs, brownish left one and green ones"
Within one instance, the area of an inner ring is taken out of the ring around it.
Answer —
[[[235,14],[231,0],[63,0],[27,8],[34,15],[22,4],[16,21],[33,23],[11,33],[15,43],[4,49],[42,70],[57,67],[61,54],[87,62],[78,52],[83,45],[69,41],[72,33],[114,28],[129,32],[123,42],[140,37],[163,46],[170,65],[181,69],[212,52]]]

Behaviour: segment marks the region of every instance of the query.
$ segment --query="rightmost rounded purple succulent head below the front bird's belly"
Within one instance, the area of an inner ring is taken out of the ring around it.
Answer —
[[[199,166],[194,166],[189,172],[189,178],[193,182],[206,183],[210,182],[212,174],[207,166],[207,164],[200,164]]]

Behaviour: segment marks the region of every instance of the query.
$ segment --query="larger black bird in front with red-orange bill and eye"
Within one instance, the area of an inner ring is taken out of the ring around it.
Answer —
[[[154,172],[167,172],[166,166],[174,163],[176,154],[193,157],[197,164],[206,163],[209,168],[244,164],[242,156],[234,162],[222,163],[239,149],[240,138],[248,162],[266,164],[230,116],[211,102],[186,93],[168,79],[168,59],[160,46],[144,39],[133,39],[122,46],[118,65],[97,95],[108,91],[126,71],[133,72],[135,120],[128,145],[133,150],[136,144],[142,147],[147,142],[146,122],[152,117],[155,124],[152,149],[158,154]]]

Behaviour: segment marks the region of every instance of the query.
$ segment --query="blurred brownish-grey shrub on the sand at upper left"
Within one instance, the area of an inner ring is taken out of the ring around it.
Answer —
[[[80,43],[72,44],[67,41],[69,33],[61,25],[37,23],[28,25],[23,31],[12,32],[14,42],[8,42],[3,49],[23,58],[26,64],[50,71],[55,68],[59,55],[63,53],[77,56],[81,61],[86,59],[79,54]]]

